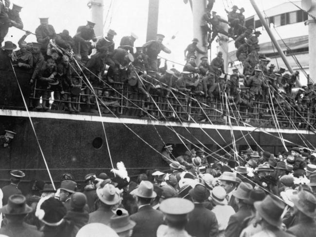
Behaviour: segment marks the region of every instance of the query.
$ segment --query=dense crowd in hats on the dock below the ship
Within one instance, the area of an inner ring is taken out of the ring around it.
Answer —
[[[199,156],[198,156],[199,155]],[[258,153],[220,160],[203,149],[173,157],[166,170],[146,170],[131,179],[123,165],[111,173],[88,173],[85,185],[70,173],[57,182],[12,170],[1,188],[0,234],[9,237],[314,237],[316,153]],[[76,177],[79,178],[79,177]]]

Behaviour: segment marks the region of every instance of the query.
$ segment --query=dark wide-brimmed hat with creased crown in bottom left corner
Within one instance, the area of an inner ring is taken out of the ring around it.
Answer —
[[[0,208],[4,215],[25,215],[32,211],[32,207],[26,204],[26,198],[21,194],[13,194],[8,203]]]

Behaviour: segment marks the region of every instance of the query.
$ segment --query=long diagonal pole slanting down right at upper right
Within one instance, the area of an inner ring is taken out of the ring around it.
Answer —
[[[274,46],[276,47],[277,51],[279,52],[279,54],[280,54],[280,56],[281,56],[281,58],[282,58],[282,60],[283,60],[283,62],[284,62],[284,64],[285,64],[286,68],[289,70],[290,73],[293,73],[294,71],[293,71],[291,65],[290,65],[289,62],[287,61],[285,54],[283,53],[283,51],[282,51],[282,49],[281,49],[281,47],[280,47],[278,41],[276,40],[276,38],[275,38],[274,35],[272,34],[272,32],[271,32],[269,26],[266,24],[265,19],[264,19],[262,13],[260,12],[260,10],[259,10],[259,8],[258,8],[258,6],[257,6],[257,4],[256,4],[256,2],[255,2],[255,0],[250,0],[250,3],[252,4],[252,6],[253,6],[253,8],[255,9],[255,11],[256,11],[258,17],[260,18],[260,21],[261,21],[261,23],[262,23],[264,29],[266,30],[266,32],[267,32],[268,35],[270,36],[270,39],[271,39],[272,43],[274,44]],[[300,86],[300,82],[299,82],[298,80],[296,80],[296,83],[297,83],[298,86]]]

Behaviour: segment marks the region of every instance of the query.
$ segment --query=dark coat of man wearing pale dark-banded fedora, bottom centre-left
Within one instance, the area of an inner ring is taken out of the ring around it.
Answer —
[[[130,219],[136,222],[132,237],[156,237],[157,229],[163,223],[163,214],[152,206],[145,205],[131,215]]]

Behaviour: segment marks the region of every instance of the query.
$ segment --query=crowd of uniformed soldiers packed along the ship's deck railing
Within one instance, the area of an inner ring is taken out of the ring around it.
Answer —
[[[0,2],[1,44],[9,27],[23,28],[19,17],[21,7],[13,4],[9,9],[7,2]],[[240,106],[241,111],[251,113],[255,113],[255,104],[264,102],[274,103],[284,111],[295,108],[299,113],[315,113],[316,85],[308,82],[293,94],[299,72],[289,74],[285,73],[285,68],[269,65],[270,59],[260,54],[258,37],[261,33],[254,32],[252,26],[245,26],[244,9],[233,6],[228,12],[228,21],[225,21],[216,12],[212,12],[211,17],[212,3],[210,0],[201,19],[202,44],[207,46],[208,41],[210,46],[218,33],[235,39],[236,56],[243,64],[243,72],[234,68],[228,75],[221,51],[211,64],[207,56],[202,56],[197,65],[196,52],[204,55],[207,52],[197,47],[199,40],[196,38],[185,49],[186,64],[179,72],[176,68],[168,69],[167,60],[160,67],[160,51],[171,53],[162,44],[162,34],[157,34],[156,40],[150,40],[134,51],[136,34],[124,36],[116,48],[113,41],[116,32],[112,29],[97,40],[93,30],[95,23],[88,21],[71,37],[68,30],[56,34],[48,18],[40,18],[35,31],[37,42],[26,42],[27,36],[33,34],[29,31],[18,41],[18,51],[14,51],[17,46],[11,41],[4,42],[0,60],[11,60],[14,68],[31,74],[29,109],[99,113],[95,97],[98,96],[102,100],[101,112],[117,115],[161,117],[163,114],[163,117],[175,117],[174,114],[178,113],[178,119],[185,120],[190,106],[197,108],[193,109],[195,114],[204,114],[196,105],[199,102],[208,104],[210,108],[223,108],[227,104],[236,108]],[[223,30],[220,22],[229,24],[228,32]],[[94,54],[93,50],[96,51]],[[119,90],[118,84],[127,85],[127,98],[139,109],[128,109],[130,107],[121,102],[123,91]],[[52,92],[53,103],[50,104]],[[188,98],[193,99],[188,102]],[[135,110],[138,112],[134,113]],[[197,119],[203,120],[205,116]]]

